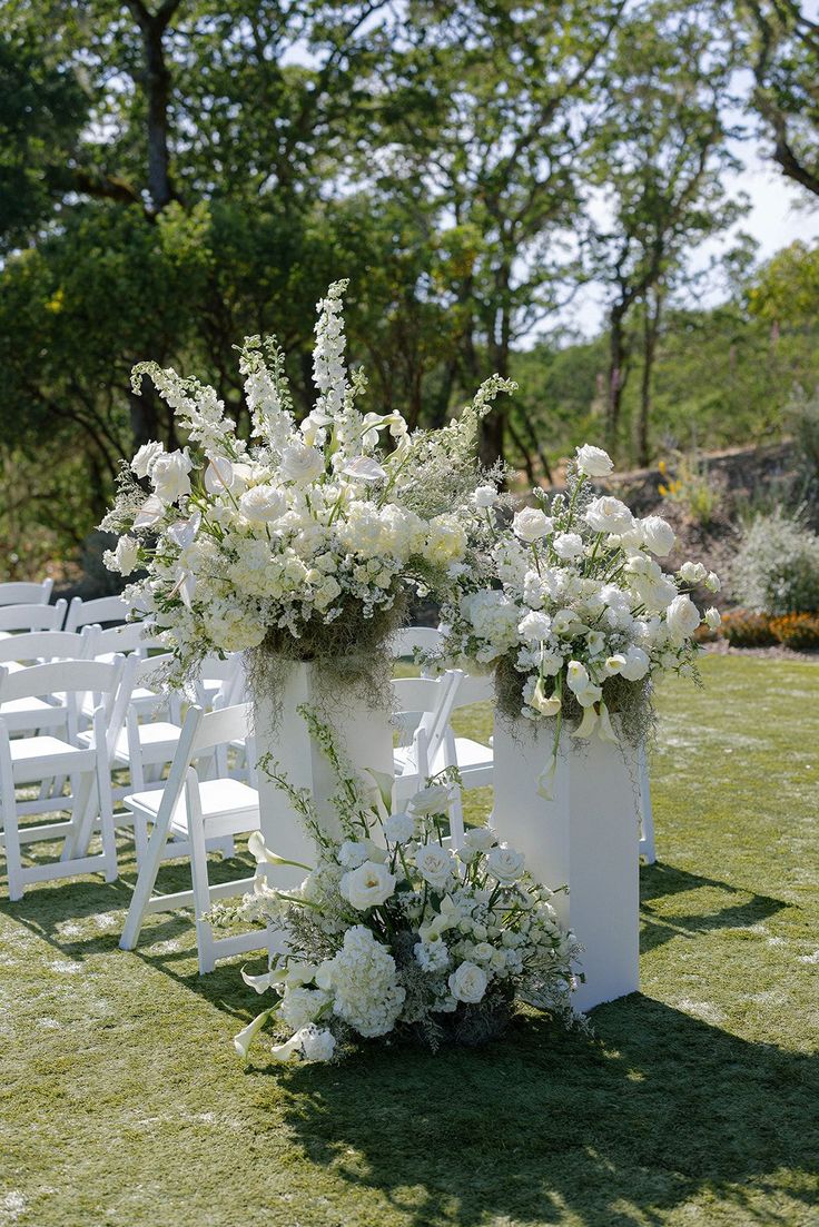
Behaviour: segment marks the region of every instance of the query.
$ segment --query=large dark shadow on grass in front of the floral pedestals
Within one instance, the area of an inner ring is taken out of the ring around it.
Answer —
[[[378,1190],[413,1227],[567,1215],[586,1227],[646,1227],[697,1195],[729,1206],[732,1222],[813,1221],[815,1059],[640,994],[596,1011],[596,1025],[589,1040],[523,1017],[478,1052],[373,1047],[340,1067],[250,1076],[276,1079],[311,1161]],[[781,1193],[782,1168],[804,1216],[771,1217],[771,1202],[755,1200],[769,1183]],[[706,1209],[691,1221],[712,1220]]]

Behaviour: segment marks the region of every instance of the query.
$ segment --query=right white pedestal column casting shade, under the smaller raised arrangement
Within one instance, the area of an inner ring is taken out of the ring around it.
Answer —
[[[555,898],[564,924],[586,947],[581,1010],[640,987],[640,815],[635,753],[626,745],[561,739],[553,799],[538,793],[554,733],[521,720],[495,723],[499,836],[524,853],[533,877],[569,886]]]

